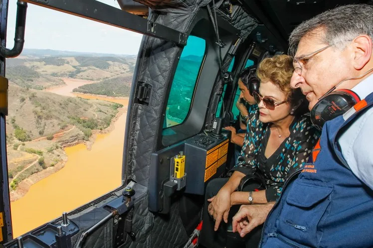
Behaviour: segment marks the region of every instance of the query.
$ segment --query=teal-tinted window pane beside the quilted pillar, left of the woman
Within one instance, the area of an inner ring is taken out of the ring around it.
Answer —
[[[188,37],[172,82],[164,128],[181,124],[186,119],[205,48],[204,39],[192,35]]]

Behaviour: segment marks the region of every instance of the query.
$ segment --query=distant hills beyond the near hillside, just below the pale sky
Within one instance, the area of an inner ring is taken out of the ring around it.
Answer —
[[[21,56],[6,60],[5,74],[11,83],[36,90],[63,85],[61,78],[86,79],[92,83],[105,79],[103,84],[86,86],[82,91],[128,96],[136,59],[137,55],[24,49]]]

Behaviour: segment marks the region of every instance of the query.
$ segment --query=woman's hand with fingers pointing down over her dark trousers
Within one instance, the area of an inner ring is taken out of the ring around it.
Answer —
[[[208,205],[208,213],[215,220],[214,230],[216,231],[220,225],[221,219],[228,223],[228,214],[230,209],[230,194],[227,189],[221,188],[216,196],[207,199],[210,202]]]

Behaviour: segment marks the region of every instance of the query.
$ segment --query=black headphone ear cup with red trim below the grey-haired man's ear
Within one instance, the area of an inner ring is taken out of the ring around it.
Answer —
[[[316,103],[311,110],[311,122],[322,129],[325,122],[343,115],[360,102],[360,97],[352,90],[337,90],[331,92]]]

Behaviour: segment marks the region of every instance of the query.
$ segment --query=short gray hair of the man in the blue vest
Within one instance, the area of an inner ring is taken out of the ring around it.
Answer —
[[[289,37],[289,55],[294,57],[299,41],[305,35],[321,29],[325,32],[321,41],[343,49],[348,41],[366,34],[373,38],[373,6],[349,4],[327,10],[299,24]]]

